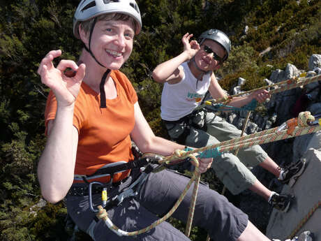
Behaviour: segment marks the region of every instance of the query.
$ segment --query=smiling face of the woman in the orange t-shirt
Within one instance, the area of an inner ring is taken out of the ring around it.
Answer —
[[[91,52],[106,68],[117,70],[133,50],[135,26],[130,20],[100,20],[91,35]],[[89,48],[89,34],[86,38]]]

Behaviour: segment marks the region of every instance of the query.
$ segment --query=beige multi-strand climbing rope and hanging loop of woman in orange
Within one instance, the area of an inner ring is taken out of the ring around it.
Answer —
[[[197,190],[200,182],[200,171],[198,168],[199,163],[197,161],[197,158],[210,158],[210,157],[215,158],[218,155],[221,155],[223,152],[231,152],[232,150],[238,150],[240,148],[250,147],[252,145],[261,145],[263,143],[270,143],[276,140],[284,140],[286,138],[292,138],[294,136],[302,136],[302,135],[314,133],[317,131],[321,131],[320,121],[318,122],[318,125],[312,125],[312,126],[309,125],[311,122],[314,122],[314,121],[315,121],[315,118],[313,117],[313,115],[311,115],[311,112],[308,112],[308,111],[300,112],[297,118],[290,119],[288,120],[288,122],[285,122],[279,127],[260,131],[257,133],[252,133],[251,135],[248,135],[248,136],[241,136],[239,138],[227,140],[225,142],[218,143],[215,145],[188,150],[187,152],[183,150],[176,150],[174,154],[170,156],[165,156],[163,159],[160,159],[158,163],[170,164],[172,162],[177,162],[177,160],[190,158],[195,165],[195,171],[193,173],[193,176],[191,177],[191,180],[186,185],[186,188],[181,193],[181,196],[179,196],[179,199],[174,204],[172,209],[167,214],[165,214],[164,217],[162,217],[161,219],[158,219],[157,221],[154,221],[153,224],[151,224],[146,228],[142,228],[139,231],[133,231],[133,232],[127,232],[127,231],[121,230],[120,228],[118,228],[112,223],[112,221],[109,219],[107,215],[106,210],[101,205],[98,206],[99,212],[96,214],[96,217],[98,217],[98,219],[103,219],[107,227],[110,228],[110,230],[112,230],[114,233],[117,233],[117,235],[120,235],[120,236],[121,235],[133,236],[133,235],[139,235],[141,233],[145,233],[151,230],[152,228],[155,228],[158,224],[162,223],[166,219],[168,219],[172,215],[172,213],[175,210],[177,210],[177,207],[179,207],[181,201],[186,196],[186,193],[188,189],[191,187],[191,184],[195,182],[193,194],[191,198],[191,205],[188,212],[188,221],[186,224],[185,234],[186,236],[188,236],[191,231],[191,224],[193,221],[193,214],[195,210],[195,203],[196,203],[196,197],[197,197]],[[197,156],[195,156],[195,154],[197,154]],[[318,203],[318,207],[319,206],[320,206],[320,203]],[[313,212],[314,211],[315,210],[313,210]],[[311,212],[309,212],[309,214],[310,213]],[[308,216],[308,217],[311,217],[311,216]],[[295,233],[296,232],[297,231],[295,231]]]

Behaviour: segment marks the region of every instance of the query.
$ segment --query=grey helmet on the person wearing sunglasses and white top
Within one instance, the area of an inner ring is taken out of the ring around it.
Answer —
[[[207,31],[204,31],[198,38],[198,42],[200,45],[205,41],[205,39],[211,39],[212,41],[215,41],[216,43],[219,43],[222,45],[222,47],[225,49],[226,53],[223,61],[225,61],[228,57],[228,54],[230,54],[231,51],[231,41],[230,38],[227,37],[226,34],[223,33],[223,31],[218,29],[209,29]]]

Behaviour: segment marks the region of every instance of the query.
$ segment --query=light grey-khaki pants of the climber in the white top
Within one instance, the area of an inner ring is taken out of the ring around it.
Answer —
[[[195,117],[198,124],[202,116],[202,112]],[[191,131],[188,133],[185,145],[191,147],[205,147],[221,143],[225,140],[238,138],[241,131],[234,125],[218,117],[213,112],[207,112],[206,118],[203,120],[207,131],[191,126]],[[165,124],[170,137],[175,140],[183,133],[184,126],[180,124]],[[214,169],[218,179],[223,182],[225,187],[234,195],[251,187],[257,180],[255,175],[248,168],[252,168],[262,163],[267,159],[268,155],[259,145],[239,149],[237,156],[231,152],[225,152],[221,156],[214,159],[211,168]]]

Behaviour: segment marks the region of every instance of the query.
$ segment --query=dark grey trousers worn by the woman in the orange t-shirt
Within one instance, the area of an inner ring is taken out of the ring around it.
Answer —
[[[137,231],[145,228],[158,220],[159,217],[167,214],[185,189],[188,180],[188,177],[172,170],[151,173],[138,195],[135,198],[125,199],[121,205],[110,209],[107,212],[108,217],[124,231]],[[132,182],[132,176],[124,184],[121,184],[119,189],[128,187],[130,182]],[[192,189],[193,185],[172,217],[183,222],[187,221]],[[94,202],[97,202],[99,198],[99,194],[94,195]],[[166,221],[147,233],[135,237],[119,237],[107,228],[104,221],[94,221],[95,214],[89,209],[88,196],[67,196],[66,199],[70,217],[82,231],[89,233],[91,238],[96,241],[190,240],[184,233],[181,233]],[[235,241],[243,233],[247,224],[248,216],[244,212],[234,207],[224,196],[209,189],[207,185],[200,184],[193,226],[204,228],[214,240]]]

